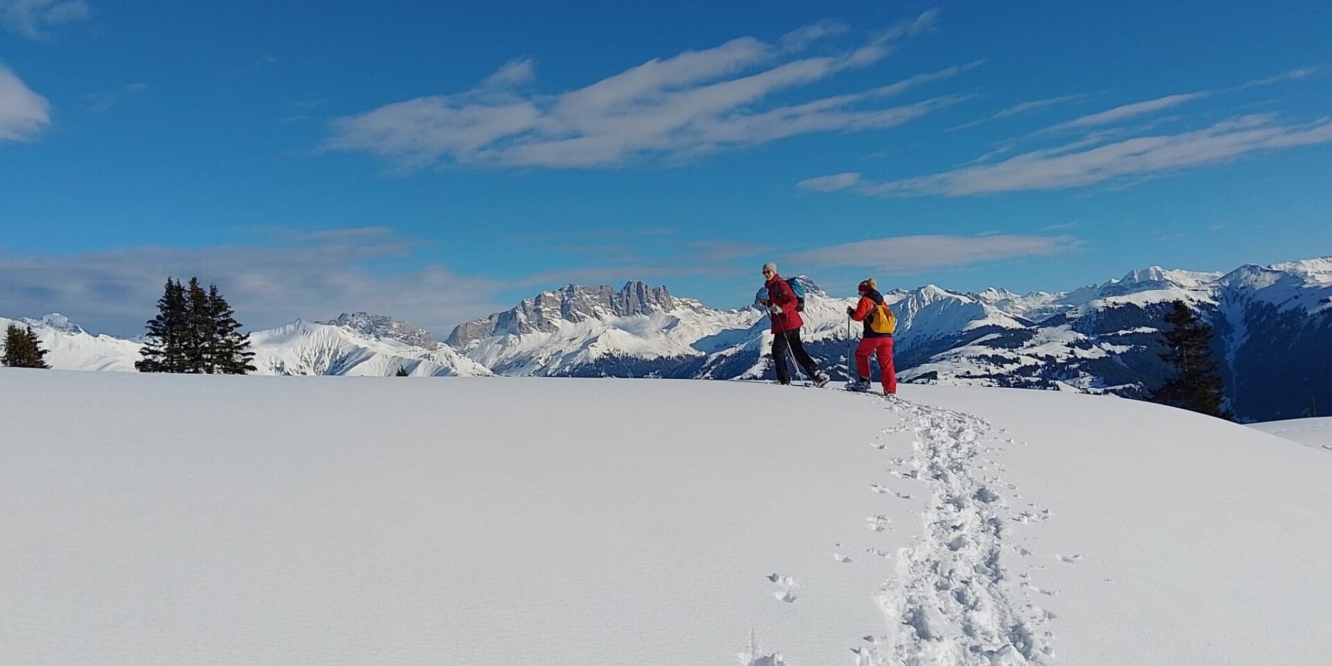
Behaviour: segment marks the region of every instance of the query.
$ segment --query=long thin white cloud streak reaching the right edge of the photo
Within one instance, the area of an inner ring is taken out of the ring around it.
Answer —
[[[1032,151],[995,164],[888,182],[860,180],[863,194],[967,196],[994,192],[1064,189],[1213,164],[1259,151],[1332,141],[1332,120],[1280,125],[1273,115],[1249,115],[1177,135],[1140,136],[1095,145],[1096,135],[1051,149]],[[813,180],[813,178],[811,178]],[[807,181],[806,181],[807,182]]]

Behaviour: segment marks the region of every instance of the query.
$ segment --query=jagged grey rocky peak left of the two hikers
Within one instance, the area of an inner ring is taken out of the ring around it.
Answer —
[[[554,292],[542,292],[515,308],[494,313],[484,320],[469,321],[453,329],[448,344],[456,348],[490,336],[521,336],[525,333],[554,332],[559,321],[579,322],[647,314],[671,310],[677,305],[665,286],[647,286],[641,281],[626,282],[618,292],[610,285],[569,285]]]

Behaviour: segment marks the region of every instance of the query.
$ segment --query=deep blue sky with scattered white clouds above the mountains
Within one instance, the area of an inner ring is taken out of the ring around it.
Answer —
[[[1332,253],[1332,4],[0,0],[0,316]]]

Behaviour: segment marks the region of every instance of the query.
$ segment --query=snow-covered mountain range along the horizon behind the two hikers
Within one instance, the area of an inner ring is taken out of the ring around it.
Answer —
[[[846,377],[852,297],[809,278],[802,337]],[[1229,273],[1152,266],[1072,292],[888,290],[898,316],[900,380],[1139,397],[1167,369],[1162,317],[1183,300],[1213,326],[1228,405],[1244,420],[1311,416],[1332,405],[1332,257],[1244,265]],[[9,320],[0,320],[0,325]],[[20,320],[55,368],[133,370],[139,341],[92,336],[57,314]],[[252,333],[264,374],[514,374],[761,378],[771,336],[761,308],[715,309],[665,286],[569,285],[454,328],[446,344],[410,324],[366,313],[296,321]]]

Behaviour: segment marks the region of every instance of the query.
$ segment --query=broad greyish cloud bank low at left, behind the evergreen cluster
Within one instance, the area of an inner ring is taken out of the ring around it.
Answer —
[[[265,246],[137,246],[64,256],[0,253],[0,314],[60,312],[89,330],[137,334],[168,276],[216,282],[249,329],[297,317],[368,310],[445,336],[453,324],[496,312],[505,285],[442,266],[377,274],[365,262],[405,256],[412,244],[384,228],[314,233],[273,230]]]

